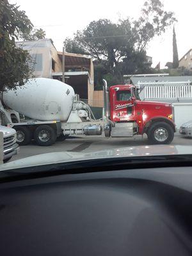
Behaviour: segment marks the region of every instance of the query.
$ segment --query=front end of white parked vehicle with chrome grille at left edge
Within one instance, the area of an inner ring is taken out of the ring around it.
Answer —
[[[3,161],[5,163],[19,152],[17,132],[15,129],[3,125],[0,125],[0,132],[3,132]]]

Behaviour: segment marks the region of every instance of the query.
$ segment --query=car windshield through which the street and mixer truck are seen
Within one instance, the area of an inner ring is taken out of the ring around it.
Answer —
[[[1,169],[192,154],[191,10],[1,0]]]

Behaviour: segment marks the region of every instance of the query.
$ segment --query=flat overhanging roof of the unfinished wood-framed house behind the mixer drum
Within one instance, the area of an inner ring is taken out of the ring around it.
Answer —
[[[61,62],[63,62],[63,52],[58,52],[58,56]],[[65,52],[65,67],[90,67],[90,60],[92,58],[83,54]]]

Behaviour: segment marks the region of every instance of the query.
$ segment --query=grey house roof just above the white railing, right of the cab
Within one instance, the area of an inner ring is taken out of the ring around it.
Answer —
[[[192,76],[131,77],[132,84],[158,82],[192,82]]]

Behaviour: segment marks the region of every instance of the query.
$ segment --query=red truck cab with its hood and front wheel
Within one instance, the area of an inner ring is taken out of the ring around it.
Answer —
[[[112,122],[134,122],[137,134],[146,133],[152,143],[166,144],[173,140],[171,104],[142,101],[136,86],[128,84],[109,87],[109,105]]]

